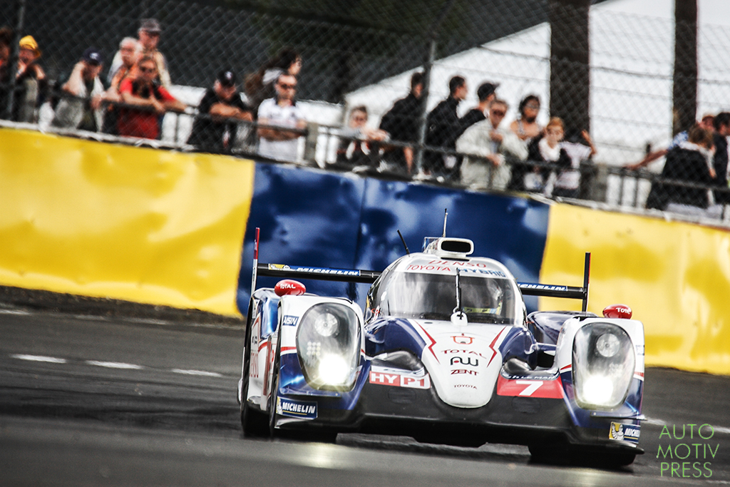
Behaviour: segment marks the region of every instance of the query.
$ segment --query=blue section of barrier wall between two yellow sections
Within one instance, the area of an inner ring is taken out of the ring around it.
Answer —
[[[412,252],[420,251],[423,237],[441,235],[445,209],[447,235],[472,239],[475,255],[502,261],[520,281],[539,280],[548,233],[546,204],[258,163],[239,275],[239,310],[248,308],[256,227],[261,228],[261,262],[380,271],[405,253],[397,230]],[[258,277],[258,287],[273,287],[276,281]],[[369,288],[302,282],[307,291],[348,296],[361,306]],[[529,310],[537,309],[537,299],[526,301]]]

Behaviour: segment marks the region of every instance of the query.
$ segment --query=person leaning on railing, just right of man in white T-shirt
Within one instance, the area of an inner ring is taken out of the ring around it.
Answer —
[[[337,164],[345,167],[375,166],[380,147],[377,142],[388,140],[388,132],[367,126],[367,107],[361,105],[350,111],[347,127],[339,133],[342,140],[337,147]]]

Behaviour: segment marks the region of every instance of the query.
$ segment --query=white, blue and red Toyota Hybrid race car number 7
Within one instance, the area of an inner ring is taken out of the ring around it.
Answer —
[[[643,453],[642,323],[621,304],[586,312],[590,254],[577,288],[518,283],[473,250],[468,239],[428,237],[383,272],[322,269],[260,264],[257,237],[244,434],[405,434],[631,464]],[[255,289],[257,273],[282,280]],[[308,294],[296,277],[372,283],[366,309]],[[583,299],[583,311],[527,315],[523,295]]]

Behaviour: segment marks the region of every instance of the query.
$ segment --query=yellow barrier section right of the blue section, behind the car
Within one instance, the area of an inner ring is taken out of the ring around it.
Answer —
[[[730,374],[730,231],[554,204],[540,282],[582,285],[588,251],[588,310],[628,304],[648,365]],[[580,302],[542,298],[540,309]]]

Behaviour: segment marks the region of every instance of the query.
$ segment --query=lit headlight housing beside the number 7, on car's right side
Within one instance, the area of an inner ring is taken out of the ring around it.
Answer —
[[[635,367],[634,344],[621,326],[583,326],[573,340],[575,401],[583,409],[619,407],[629,394]]]

